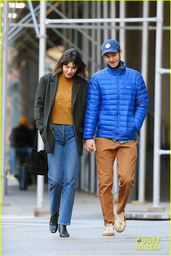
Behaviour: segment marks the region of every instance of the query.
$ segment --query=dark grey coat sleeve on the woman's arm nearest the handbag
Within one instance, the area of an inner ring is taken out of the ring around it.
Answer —
[[[36,91],[35,105],[34,105],[34,117],[36,121],[36,127],[39,131],[43,129],[44,123],[44,103],[46,95],[46,87],[43,77],[40,78],[38,89]]]

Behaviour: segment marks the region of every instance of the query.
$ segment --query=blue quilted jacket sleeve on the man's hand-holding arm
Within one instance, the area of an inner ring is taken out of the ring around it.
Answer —
[[[100,110],[101,92],[95,75],[92,76],[88,86],[86,119],[84,125],[84,139],[92,139],[96,132]]]

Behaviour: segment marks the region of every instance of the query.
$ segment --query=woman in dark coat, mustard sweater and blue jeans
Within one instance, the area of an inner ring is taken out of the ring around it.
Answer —
[[[79,76],[80,74],[81,76]],[[50,231],[69,237],[75,189],[83,154],[88,81],[75,49],[65,51],[52,73],[40,78],[35,98],[36,126],[48,153]],[[58,228],[59,226],[59,228]]]

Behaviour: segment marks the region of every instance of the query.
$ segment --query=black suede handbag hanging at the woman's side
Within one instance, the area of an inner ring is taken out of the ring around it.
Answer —
[[[37,137],[38,130],[36,132]],[[29,172],[35,175],[46,175],[48,174],[48,157],[45,150],[38,150],[35,148],[36,138],[34,142],[34,148],[32,148],[29,159]]]

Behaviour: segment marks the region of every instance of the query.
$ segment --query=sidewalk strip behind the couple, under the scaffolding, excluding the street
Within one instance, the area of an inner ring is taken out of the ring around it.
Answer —
[[[8,182],[8,196],[5,196],[5,201],[10,206],[3,206],[1,214],[5,215],[34,215],[34,209],[37,205],[36,185],[29,186],[28,190],[19,190],[17,180]],[[48,184],[44,184],[44,202],[43,206],[49,210],[49,195]],[[127,219],[170,219],[170,203],[161,202],[161,206],[165,208],[163,211],[149,212],[149,208],[153,207],[152,202],[147,204],[132,204],[126,205]],[[115,208],[115,206],[114,206]],[[103,219],[101,213],[101,206],[98,195],[76,191],[73,218],[83,219]]]

